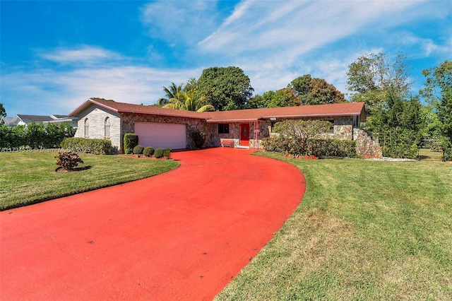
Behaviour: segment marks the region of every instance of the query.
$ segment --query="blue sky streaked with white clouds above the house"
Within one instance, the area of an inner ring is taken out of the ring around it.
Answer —
[[[255,94],[304,74],[347,93],[362,54],[452,59],[452,1],[0,0],[0,102],[15,114],[69,114],[90,97],[144,105],[162,86],[239,66]]]

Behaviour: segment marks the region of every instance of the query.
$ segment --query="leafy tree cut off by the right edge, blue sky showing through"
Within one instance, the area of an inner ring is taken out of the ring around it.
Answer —
[[[427,81],[420,94],[434,106],[441,122],[441,132],[452,141],[452,61],[422,71]]]

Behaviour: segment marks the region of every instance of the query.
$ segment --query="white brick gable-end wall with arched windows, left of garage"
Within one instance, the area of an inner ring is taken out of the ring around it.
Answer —
[[[105,138],[105,119],[109,121],[109,140],[116,153],[121,150],[121,120],[119,114],[92,105],[78,114],[78,125],[75,137],[80,138]],[[85,137],[85,120],[88,119],[88,136]]]

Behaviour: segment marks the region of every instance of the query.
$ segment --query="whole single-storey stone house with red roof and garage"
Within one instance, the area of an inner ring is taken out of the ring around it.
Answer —
[[[276,122],[311,118],[328,120],[333,124],[331,132],[324,136],[358,139],[365,144],[364,148],[374,152],[374,146],[369,146],[369,143],[374,142],[359,129],[359,123],[365,121],[364,102],[191,112],[90,99],[69,116],[78,117],[76,137],[109,139],[121,153],[126,133],[138,134],[139,144],[153,148],[194,148],[191,138],[194,131],[206,133],[207,147],[218,147],[227,140],[234,147],[258,148],[261,139],[270,136]],[[369,151],[363,152],[375,155]]]

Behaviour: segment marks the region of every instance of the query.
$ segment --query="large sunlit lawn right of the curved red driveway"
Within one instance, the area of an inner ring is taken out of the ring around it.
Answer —
[[[452,165],[296,160],[295,213],[215,300],[451,300]]]

